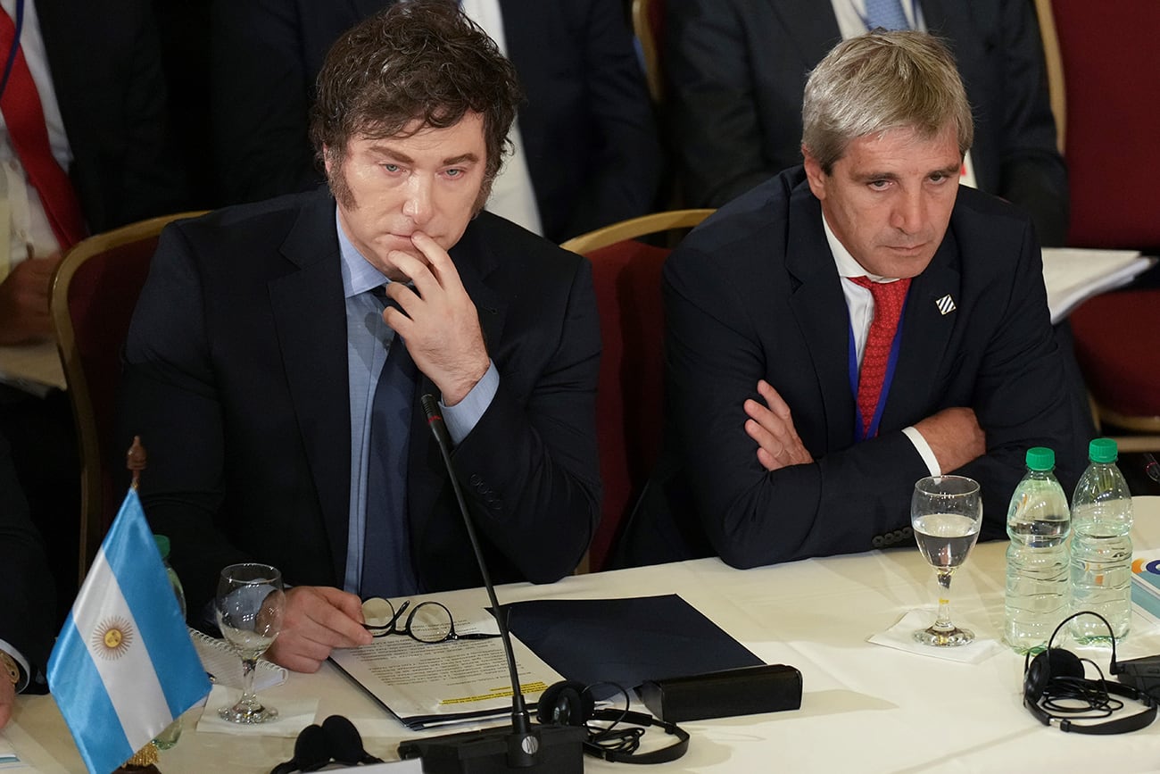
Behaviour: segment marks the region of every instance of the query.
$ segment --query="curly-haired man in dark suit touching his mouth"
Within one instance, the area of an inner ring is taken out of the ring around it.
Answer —
[[[125,437],[150,450],[145,512],[195,614],[224,565],[282,570],[293,588],[270,656],[290,668],[369,642],[356,594],[480,584],[423,393],[441,398],[493,577],[557,580],[590,540],[590,268],[480,212],[517,94],[457,8],[392,7],[343,35],[319,78],[311,133],[329,190],[162,234],[122,395]],[[379,371],[407,361],[415,384],[376,442]],[[394,463],[369,461],[380,453]],[[400,461],[405,501],[374,508],[372,480]],[[376,549],[379,527],[393,537]]]

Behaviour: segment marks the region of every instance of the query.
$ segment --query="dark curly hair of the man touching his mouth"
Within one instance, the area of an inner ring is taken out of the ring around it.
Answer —
[[[448,0],[401,0],[347,30],[326,55],[316,94],[310,139],[335,167],[355,137],[413,135],[483,115],[485,196],[510,152],[522,99],[512,63]]]

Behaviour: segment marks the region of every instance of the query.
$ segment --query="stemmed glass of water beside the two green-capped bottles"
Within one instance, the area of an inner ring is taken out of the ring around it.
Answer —
[[[965,476],[928,476],[914,485],[911,527],[923,558],[938,576],[938,617],[914,632],[925,645],[952,648],[974,639],[974,632],[950,622],[950,576],[966,560],[979,538],[983,501],[979,483]]]

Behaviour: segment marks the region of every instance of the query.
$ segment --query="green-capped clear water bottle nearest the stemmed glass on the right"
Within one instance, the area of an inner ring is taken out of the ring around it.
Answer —
[[[1067,495],[1054,473],[1056,454],[1027,450],[1027,473],[1007,511],[1007,595],[1003,638],[1020,653],[1038,653],[1067,617]]]

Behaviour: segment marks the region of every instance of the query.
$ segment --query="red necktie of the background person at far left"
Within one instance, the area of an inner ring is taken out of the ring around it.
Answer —
[[[15,37],[16,26],[12,16],[0,9],[0,51],[10,51],[16,44]],[[85,238],[85,218],[68,175],[52,157],[41,95],[36,92],[21,49],[16,50],[8,85],[0,96],[0,111],[24,173],[41,195],[52,233],[60,249],[68,249]]]

